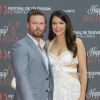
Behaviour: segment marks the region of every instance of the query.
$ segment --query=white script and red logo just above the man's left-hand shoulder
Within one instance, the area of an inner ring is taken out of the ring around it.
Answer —
[[[17,31],[20,22],[8,22],[0,27],[0,43],[11,43],[18,40]]]

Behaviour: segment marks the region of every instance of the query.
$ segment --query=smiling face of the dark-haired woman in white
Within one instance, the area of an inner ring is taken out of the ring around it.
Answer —
[[[58,35],[64,35],[66,30],[66,23],[57,16],[54,16],[52,19],[52,30]]]

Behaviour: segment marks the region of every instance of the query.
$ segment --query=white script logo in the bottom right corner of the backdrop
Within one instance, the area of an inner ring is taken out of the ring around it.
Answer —
[[[100,100],[100,91],[97,91],[96,88],[92,88],[88,90],[86,97],[89,100]]]

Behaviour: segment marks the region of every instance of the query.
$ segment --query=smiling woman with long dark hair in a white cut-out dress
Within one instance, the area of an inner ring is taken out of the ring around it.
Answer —
[[[70,19],[64,11],[52,13],[49,40],[46,41],[46,48],[54,77],[53,100],[85,100],[86,51],[82,40],[73,33]]]

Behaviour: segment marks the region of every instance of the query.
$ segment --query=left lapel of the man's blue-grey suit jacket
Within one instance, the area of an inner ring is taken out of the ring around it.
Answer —
[[[42,56],[42,54],[40,53],[40,51],[37,49],[37,47],[35,46],[34,42],[28,37],[26,36],[25,39],[27,40],[27,42],[30,44],[30,46],[33,48],[33,50],[39,55],[39,57],[41,58],[46,70],[47,70],[47,67],[46,67],[46,64],[45,64],[45,61],[44,61],[44,58]]]

